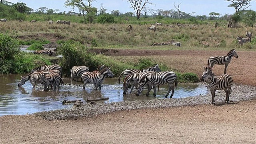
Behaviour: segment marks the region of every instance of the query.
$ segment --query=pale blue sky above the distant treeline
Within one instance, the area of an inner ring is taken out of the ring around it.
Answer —
[[[40,7],[46,7],[48,9],[59,9],[59,12],[68,12],[73,11],[70,7],[65,7],[64,4],[66,0],[7,0],[12,3],[23,2],[26,3],[28,7],[36,10]],[[87,0],[84,0],[87,2]],[[149,2],[154,3],[155,5],[148,4],[148,8],[154,10],[171,10],[174,9],[173,3],[175,2],[180,4],[180,11],[188,13],[195,12],[196,15],[208,15],[210,12],[217,12],[221,15],[224,14],[233,14],[235,8],[228,7],[232,2],[227,2],[226,0],[149,0]],[[86,3],[88,4],[88,3]],[[112,10],[119,10],[119,12],[134,12],[133,8],[127,0],[96,0],[91,3],[92,7],[100,8],[100,5],[103,4],[106,12],[111,13]],[[250,2],[250,7],[248,9],[256,11],[256,0]],[[74,12],[78,13],[77,9],[74,9]],[[149,14],[149,13],[148,13]]]

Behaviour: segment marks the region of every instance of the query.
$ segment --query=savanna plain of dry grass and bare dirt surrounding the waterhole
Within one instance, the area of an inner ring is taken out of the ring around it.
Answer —
[[[20,41],[74,40],[93,47],[89,50],[101,53],[100,58],[107,61],[111,58],[129,65],[146,58],[168,70],[192,72],[199,78],[210,56],[224,55],[234,48],[238,58],[232,58],[227,74],[235,84],[256,86],[256,28],[242,24],[238,28],[214,28],[209,22],[175,28],[157,26],[153,32],[147,30],[148,26],[134,24],[127,31],[127,24],[68,26],[8,21],[0,23],[0,31]],[[246,31],[252,32],[252,42],[239,46],[236,37],[246,37]],[[180,42],[181,47],[150,46],[172,39]],[[201,42],[208,42],[209,47]],[[223,71],[223,65],[213,67],[216,75]],[[224,104],[224,95],[222,98],[223,102],[215,106],[209,101],[195,106],[121,110],[67,120],[45,120],[33,114],[1,116],[0,143],[255,143],[256,100]]]

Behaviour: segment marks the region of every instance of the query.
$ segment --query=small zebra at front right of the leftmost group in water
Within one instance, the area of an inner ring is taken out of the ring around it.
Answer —
[[[40,74],[41,84],[44,85],[44,91],[48,90],[48,86],[53,86],[53,90],[56,90],[56,86],[58,90],[60,90],[60,75],[59,74]]]

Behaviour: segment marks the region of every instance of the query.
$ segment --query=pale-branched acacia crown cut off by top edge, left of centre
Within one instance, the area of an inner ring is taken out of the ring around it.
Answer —
[[[91,2],[95,0],[86,1],[88,2],[88,6],[85,4],[84,0],[66,0],[64,6],[71,7],[72,10],[74,10],[74,8],[78,8],[78,10],[80,9],[80,12],[82,12],[82,10],[85,10],[87,13],[89,13],[92,7]]]

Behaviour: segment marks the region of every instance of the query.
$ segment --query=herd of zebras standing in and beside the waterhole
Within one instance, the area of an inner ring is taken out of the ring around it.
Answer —
[[[232,57],[238,58],[236,54],[236,50],[232,49],[226,55],[222,56],[211,56],[208,59],[207,67],[204,67],[204,72],[201,81],[208,82],[208,87],[210,88],[210,92],[212,94],[212,104],[215,104],[214,97],[216,90],[224,90],[226,92],[225,103],[229,102],[229,96],[231,92],[231,87],[233,80],[229,74],[226,74],[226,68],[230,63]],[[225,65],[224,74],[220,76],[214,75],[212,72],[212,68],[214,64]],[[99,88],[101,90],[101,85],[104,78],[114,77],[111,69],[101,64],[98,66],[97,70],[93,72],[89,72],[89,68],[87,66],[73,66],[70,70],[71,74],[71,83],[76,78],[76,81],[79,79],[84,84],[83,89],[85,89],[86,84],[94,84],[95,90]],[[123,94],[126,95],[128,88],[130,88],[130,94],[132,94],[132,90],[135,86],[135,95],[139,96],[145,86],[148,87],[148,91],[146,96],[149,95],[149,92],[153,87],[153,96],[156,97],[156,85],[158,85],[158,91],[160,85],[168,84],[168,92],[166,94],[166,98],[169,96],[170,91],[172,91],[170,98],[174,95],[174,88],[177,88],[177,75],[173,71],[161,71],[158,67],[158,64],[154,66],[148,67],[142,70],[136,69],[126,69],[124,70],[120,76],[118,77],[118,83],[120,84],[121,77],[124,77],[123,84]],[[44,90],[49,90],[49,86],[51,89],[56,90],[56,86],[58,90],[60,90],[60,85],[63,85],[64,82],[62,80],[62,68],[57,65],[45,65],[39,66],[31,70],[30,73],[21,76],[21,80],[18,86],[22,86],[26,81],[30,80],[33,88],[35,88],[36,83],[41,83],[44,85]]]

